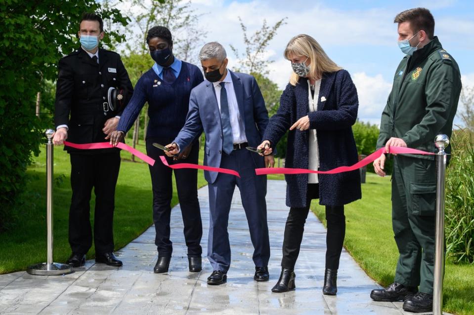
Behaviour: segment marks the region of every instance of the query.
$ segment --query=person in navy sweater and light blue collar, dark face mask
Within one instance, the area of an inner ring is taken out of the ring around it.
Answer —
[[[164,152],[153,143],[171,143],[184,125],[189,107],[191,89],[201,83],[203,75],[198,67],[178,60],[172,54],[172,35],[166,27],[155,26],[148,31],[146,42],[155,61],[135,85],[133,96],[124,110],[111,143],[117,145],[125,137],[145,102],[150,117],[146,132],[146,153],[160,159]],[[199,140],[185,148],[178,157],[168,158],[168,163],[198,163]],[[153,221],[158,261],[155,273],[166,273],[170,266],[172,241],[170,216],[172,199],[172,169],[160,161],[150,166],[153,189]],[[176,189],[184,223],[184,238],[188,247],[189,271],[199,272],[201,262],[202,221],[197,193],[197,170],[175,169]]]

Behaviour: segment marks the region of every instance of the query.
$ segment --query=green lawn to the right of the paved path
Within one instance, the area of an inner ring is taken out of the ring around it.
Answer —
[[[324,207],[317,200],[311,209],[326,224]],[[368,173],[362,199],[346,205],[345,216],[345,248],[370,277],[387,286],[393,282],[398,258],[391,227],[390,177]],[[474,265],[447,262],[443,291],[444,311],[474,314]]]

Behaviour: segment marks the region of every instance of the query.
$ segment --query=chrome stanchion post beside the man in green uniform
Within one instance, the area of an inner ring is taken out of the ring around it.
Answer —
[[[438,134],[434,140],[438,153],[436,155],[436,224],[434,242],[434,281],[433,281],[433,315],[443,314],[443,278],[444,278],[444,175],[446,172],[446,153],[449,144],[448,136]]]

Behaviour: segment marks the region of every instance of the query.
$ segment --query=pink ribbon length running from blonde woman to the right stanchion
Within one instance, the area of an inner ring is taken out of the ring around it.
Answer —
[[[423,155],[434,155],[434,153],[410,149],[410,148],[402,148],[402,147],[391,147],[389,148],[390,154],[423,154]],[[256,168],[255,173],[257,175],[268,175],[268,174],[337,174],[342,172],[349,172],[356,169],[359,169],[371,162],[375,161],[377,158],[380,158],[381,155],[385,153],[385,148],[381,148],[376,152],[372,153],[368,157],[358,161],[354,165],[351,166],[340,166],[328,171],[315,171],[305,168],[286,168],[286,167],[273,167],[273,168]]]

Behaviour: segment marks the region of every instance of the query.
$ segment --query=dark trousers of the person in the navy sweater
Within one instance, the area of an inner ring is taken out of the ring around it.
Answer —
[[[150,166],[151,184],[153,189],[153,222],[155,223],[155,244],[158,257],[171,257],[172,241],[170,240],[171,200],[172,200],[172,173],[176,180],[179,206],[184,223],[184,239],[188,247],[188,257],[200,257],[202,254],[201,237],[203,226],[201,221],[201,209],[199,207],[196,169],[171,169],[163,165],[160,156],[164,156],[163,150],[155,148],[154,142],[167,145],[173,139],[148,138],[146,139],[146,152],[151,158],[156,159],[154,166]],[[167,157],[168,163],[198,163],[199,142],[196,141],[189,153],[189,157],[173,161]]]

